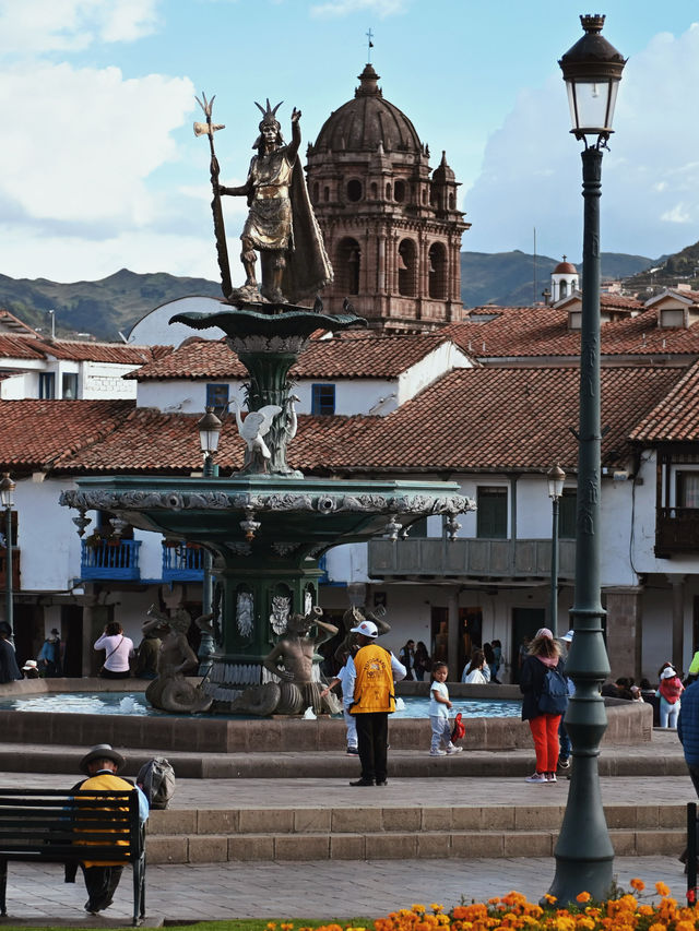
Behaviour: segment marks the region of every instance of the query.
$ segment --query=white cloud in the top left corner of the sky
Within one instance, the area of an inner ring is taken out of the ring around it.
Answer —
[[[153,32],[157,5],[158,0],[0,0],[0,55],[132,41]]]

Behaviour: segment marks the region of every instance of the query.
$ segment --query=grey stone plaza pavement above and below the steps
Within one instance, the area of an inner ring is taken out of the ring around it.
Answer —
[[[8,745],[5,744],[5,749]],[[28,748],[17,747],[17,752]],[[42,752],[46,748],[33,748]],[[651,748],[644,748],[644,752]],[[74,748],[75,752],[79,748]],[[521,751],[523,752],[523,751]],[[643,751],[641,751],[643,752]],[[652,752],[660,761],[682,757],[672,731],[653,732]],[[638,747],[604,748],[603,755],[632,760]],[[175,756],[176,754],[173,754]],[[530,754],[531,755],[531,754]],[[358,768],[358,766],[357,766]],[[680,772],[680,769],[677,769]],[[4,787],[62,787],[75,778],[73,754],[66,775],[2,773]],[[526,807],[560,805],[570,783],[528,785],[521,776],[488,778],[433,776],[393,778],[384,788],[351,788],[346,778],[178,779],[171,808],[346,805],[363,808],[430,804]],[[677,804],[695,801],[688,775],[609,776],[601,778],[606,805]],[[100,916],[83,911],[85,892],[64,884],[57,864],[9,863],[5,928],[21,924],[114,927],[130,923],[131,874],[125,871],[115,904]],[[555,872],[554,858],[322,860],[295,862],[222,862],[147,869],[146,924],[230,918],[352,919],[376,918],[413,903],[439,903],[446,909],[466,900],[487,899],[511,890],[537,900]],[[633,876],[652,890],[666,883],[675,897],[685,893],[683,867],[674,856],[617,857],[614,873],[628,887]]]

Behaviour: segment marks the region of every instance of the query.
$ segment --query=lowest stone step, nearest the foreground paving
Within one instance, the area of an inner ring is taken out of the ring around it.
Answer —
[[[227,861],[390,860],[550,857],[557,831],[423,831],[333,834],[155,835],[146,842],[150,863]],[[680,828],[614,828],[617,856],[677,856],[685,846]]]

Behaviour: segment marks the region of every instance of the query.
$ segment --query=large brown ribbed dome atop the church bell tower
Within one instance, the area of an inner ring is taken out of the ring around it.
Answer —
[[[354,99],[347,100],[325,120],[318,133],[315,152],[384,152],[423,154],[423,145],[408,118],[383,99],[379,75],[367,64],[359,75]]]

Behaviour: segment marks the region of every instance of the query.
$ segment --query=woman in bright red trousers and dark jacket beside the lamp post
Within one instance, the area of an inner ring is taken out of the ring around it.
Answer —
[[[529,721],[536,751],[536,772],[526,777],[528,783],[556,781],[558,725],[561,714],[541,709],[542,694],[546,691],[544,683],[549,669],[556,669],[561,677],[565,675],[560,647],[548,628],[542,628],[531,642],[520,670],[522,720]]]

